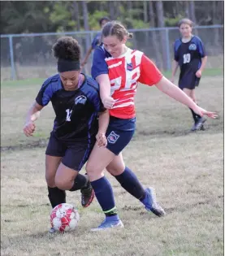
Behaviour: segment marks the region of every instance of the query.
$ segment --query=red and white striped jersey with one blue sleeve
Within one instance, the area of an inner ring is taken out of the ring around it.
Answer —
[[[104,46],[98,46],[93,54],[92,76],[95,79],[102,74],[109,74],[110,94],[116,101],[110,115],[120,119],[135,117],[134,97],[139,82],[151,86],[162,79],[162,73],[143,52],[128,48],[125,54],[113,58]]]

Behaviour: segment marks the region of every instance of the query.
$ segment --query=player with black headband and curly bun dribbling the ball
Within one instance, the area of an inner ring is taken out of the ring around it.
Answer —
[[[78,42],[72,37],[61,37],[54,44],[53,52],[58,59],[58,74],[50,76],[42,85],[28,111],[24,133],[32,136],[37,114],[51,102],[54,128],[45,152],[50,203],[54,207],[66,202],[64,190],[81,189],[81,204],[86,207],[93,201],[94,193],[88,176],[79,171],[89,158],[96,138],[97,145],[106,145],[109,114],[102,107],[97,82],[80,73]]]

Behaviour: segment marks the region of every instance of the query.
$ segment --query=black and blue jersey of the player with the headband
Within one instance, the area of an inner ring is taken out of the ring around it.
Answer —
[[[63,140],[89,138],[97,132],[97,114],[102,111],[99,85],[93,78],[84,76],[79,89],[63,89],[57,74],[45,80],[36,101],[41,106],[52,103],[54,113],[53,132]]]

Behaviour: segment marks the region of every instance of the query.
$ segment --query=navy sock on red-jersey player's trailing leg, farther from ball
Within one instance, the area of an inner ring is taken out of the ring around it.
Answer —
[[[145,189],[136,175],[128,167],[125,167],[122,174],[115,176],[115,179],[118,180],[123,189],[127,190],[133,197],[139,200],[145,198]]]

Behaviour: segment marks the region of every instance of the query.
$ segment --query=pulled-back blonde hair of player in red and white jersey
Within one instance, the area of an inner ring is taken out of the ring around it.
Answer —
[[[102,37],[109,36],[116,36],[120,41],[123,41],[124,37],[132,38],[133,34],[128,33],[127,28],[125,28],[119,21],[112,20],[106,23],[102,28]]]

